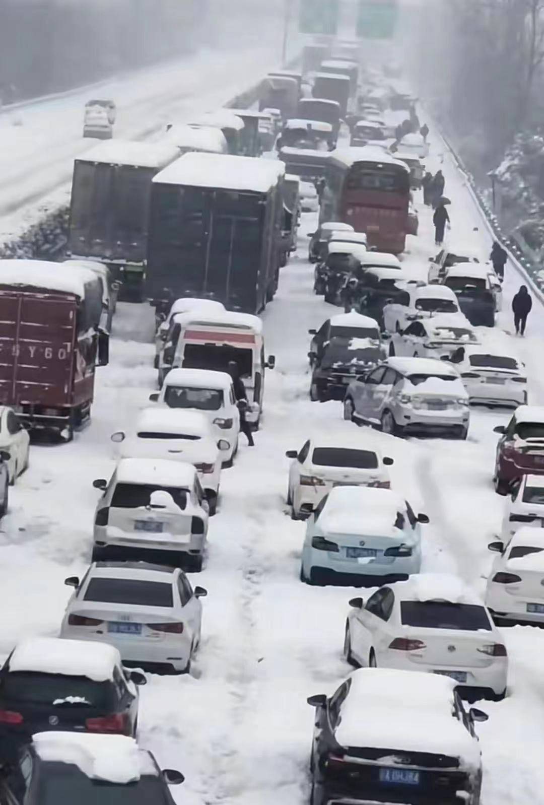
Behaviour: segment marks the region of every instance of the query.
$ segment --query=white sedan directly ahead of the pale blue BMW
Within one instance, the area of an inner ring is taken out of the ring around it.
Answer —
[[[356,438],[357,436],[357,438]],[[336,486],[376,486],[389,489],[387,467],[393,459],[381,451],[364,431],[343,438],[316,436],[308,439],[300,451],[288,450],[291,458],[287,504],[291,518],[308,517],[322,499]]]

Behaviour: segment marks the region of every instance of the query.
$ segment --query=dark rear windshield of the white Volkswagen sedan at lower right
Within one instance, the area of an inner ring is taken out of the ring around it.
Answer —
[[[402,601],[401,619],[405,626],[422,629],[460,629],[491,631],[483,606],[452,604],[449,601]]]

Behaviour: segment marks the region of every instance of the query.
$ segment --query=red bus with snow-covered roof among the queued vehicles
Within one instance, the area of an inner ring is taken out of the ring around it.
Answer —
[[[410,170],[373,147],[338,148],[329,155],[319,223],[344,221],[365,232],[369,246],[401,254],[406,247]]]

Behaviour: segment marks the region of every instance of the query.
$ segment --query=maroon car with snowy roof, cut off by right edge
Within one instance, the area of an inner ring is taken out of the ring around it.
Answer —
[[[544,407],[522,405],[507,427],[494,431],[502,436],[493,477],[500,495],[508,494],[512,481],[521,475],[544,475]]]

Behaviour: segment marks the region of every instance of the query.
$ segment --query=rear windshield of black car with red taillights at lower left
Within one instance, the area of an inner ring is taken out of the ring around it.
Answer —
[[[16,671],[4,675],[0,684],[0,699],[4,703],[105,708],[111,704],[112,696],[112,683],[93,682],[84,676]]]

